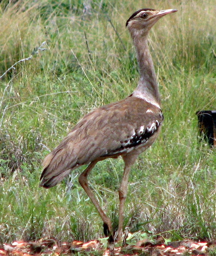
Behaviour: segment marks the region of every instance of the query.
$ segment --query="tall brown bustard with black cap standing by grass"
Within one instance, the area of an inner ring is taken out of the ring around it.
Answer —
[[[140,153],[158,137],[163,122],[159,87],[147,38],[161,17],[176,11],[144,8],[130,16],[126,27],[137,53],[140,73],[137,87],[125,99],[86,114],[42,163],[39,186],[44,188],[55,186],[72,170],[88,165],[78,180],[101,216],[104,234],[110,242],[122,240],[124,233],[124,204],[131,167]],[[113,231],[112,222],[90,189],[87,178],[97,162],[119,156],[124,160],[124,172],[119,186],[118,229]]]

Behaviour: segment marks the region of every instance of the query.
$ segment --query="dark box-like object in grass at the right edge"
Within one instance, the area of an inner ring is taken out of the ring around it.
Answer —
[[[216,146],[216,110],[200,110],[196,112],[198,129],[201,138],[210,146]]]

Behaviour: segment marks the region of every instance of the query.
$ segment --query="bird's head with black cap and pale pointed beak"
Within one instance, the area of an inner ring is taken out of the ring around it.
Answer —
[[[130,32],[140,32],[147,34],[150,28],[164,15],[174,13],[177,10],[154,10],[154,9],[140,9],[133,13],[126,22]]]

